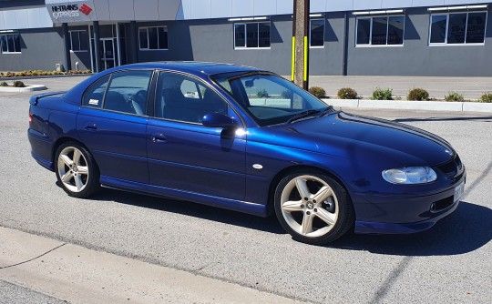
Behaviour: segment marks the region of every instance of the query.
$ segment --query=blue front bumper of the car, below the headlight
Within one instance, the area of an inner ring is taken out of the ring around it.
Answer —
[[[405,234],[431,228],[456,210],[459,199],[455,201],[455,189],[465,181],[463,174],[451,187],[425,196],[354,196],[354,232]]]

